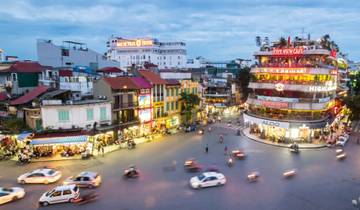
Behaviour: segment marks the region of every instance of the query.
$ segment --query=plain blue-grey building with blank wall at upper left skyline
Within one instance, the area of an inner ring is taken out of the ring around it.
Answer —
[[[104,67],[119,67],[116,61],[108,60],[103,54],[97,53],[86,44],[64,41],[55,45],[51,40],[37,40],[37,56],[43,66],[76,67],[87,66],[93,70]]]

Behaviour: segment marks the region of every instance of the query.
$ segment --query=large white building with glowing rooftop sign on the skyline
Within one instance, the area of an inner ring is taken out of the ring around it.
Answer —
[[[153,63],[159,69],[186,68],[184,42],[159,42],[157,39],[124,39],[111,37],[107,57],[120,62],[120,68]]]

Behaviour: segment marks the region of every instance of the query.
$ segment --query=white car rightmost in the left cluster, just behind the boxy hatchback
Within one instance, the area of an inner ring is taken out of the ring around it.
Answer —
[[[99,187],[101,184],[101,176],[96,172],[84,171],[77,176],[67,178],[64,185],[75,184],[78,187],[94,188]]]

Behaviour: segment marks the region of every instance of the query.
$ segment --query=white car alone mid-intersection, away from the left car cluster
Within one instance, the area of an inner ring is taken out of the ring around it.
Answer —
[[[190,179],[192,188],[220,186],[226,183],[224,174],[217,172],[205,172]]]

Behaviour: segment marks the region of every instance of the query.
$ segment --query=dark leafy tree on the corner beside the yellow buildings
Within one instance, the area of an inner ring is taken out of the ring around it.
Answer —
[[[185,115],[185,123],[192,120],[193,112],[200,104],[200,98],[196,94],[182,92],[181,94],[182,113]]]

